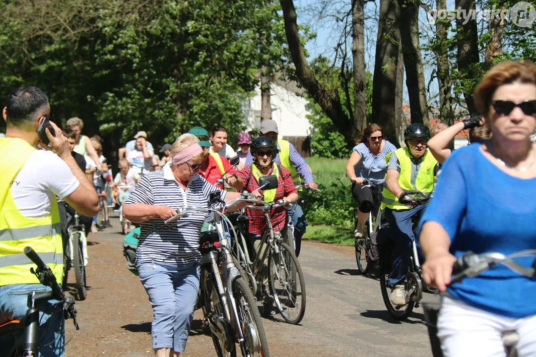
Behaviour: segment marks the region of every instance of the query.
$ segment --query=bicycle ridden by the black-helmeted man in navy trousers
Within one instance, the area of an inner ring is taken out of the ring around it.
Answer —
[[[405,191],[406,194],[420,196],[414,198],[413,207],[425,204],[431,199],[431,195],[425,195],[418,190]],[[414,218],[417,218],[414,216]],[[413,230],[415,232],[418,220],[413,222]],[[422,283],[422,269],[419,262],[419,253],[416,244],[416,238],[412,241],[412,254],[408,263],[408,271],[404,281],[405,286],[405,303],[404,305],[393,305],[390,299],[390,288],[388,286],[389,276],[391,275],[391,252],[394,243],[390,240],[383,242],[379,254],[379,284],[382,291],[383,302],[389,314],[397,320],[404,320],[413,311],[414,307],[419,307],[419,302],[422,299],[423,290],[427,290],[427,286]]]

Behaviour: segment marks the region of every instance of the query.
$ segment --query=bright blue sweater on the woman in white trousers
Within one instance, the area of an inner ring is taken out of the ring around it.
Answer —
[[[456,257],[468,250],[509,255],[536,248],[536,178],[510,176],[479,148],[480,143],[460,148],[446,160],[420,226],[427,221],[441,224]],[[526,267],[533,261],[517,259]],[[448,292],[489,313],[513,318],[536,314],[536,279],[501,264],[453,284]]]

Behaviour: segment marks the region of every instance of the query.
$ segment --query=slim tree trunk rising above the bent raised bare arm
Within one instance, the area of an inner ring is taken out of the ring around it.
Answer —
[[[446,9],[446,0],[436,0],[437,9]],[[450,22],[438,20],[435,22],[436,40],[434,44],[434,54],[437,60],[437,85],[439,88],[439,117],[441,123],[448,126],[454,124],[454,111],[452,110],[452,78],[450,77],[450,66],[448,51],[445,50],[448,40],[447,29]]]

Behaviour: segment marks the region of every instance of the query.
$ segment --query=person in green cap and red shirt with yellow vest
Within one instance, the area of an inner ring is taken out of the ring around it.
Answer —
[[[215,185],[220,178],[224,178],[229,186],[242,190],[242,179],[237,175],[229,160],[218,153],[210,153],[209,132],[199,126],[194,126],[188,131],[189,134],[195,135],[199,139],[199,145],[203,148],[203,165],[199,169],[199,174]],[[227,173],[226,173],[227,171]],[[225,174],[225,175],[224,175]],[[220,187],[222,188],[222,187]]]

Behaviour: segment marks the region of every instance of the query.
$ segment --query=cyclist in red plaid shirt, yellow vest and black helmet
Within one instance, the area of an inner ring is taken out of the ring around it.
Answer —
[[[292,181],[291,172],[285,169],[284,166],[273,162],[273,158],[277,154],[276,143],[266,136],[260,136],[253,140],[249,150],[254,157],[254,162],[249,166],[245,166],[239,172],[239,176],[244,181],[244,188],[249,192],[253,192],[259,188],[258,179],[260,177],[273,174],[278,178],[278,187],[269,190],[259,190],[255,193],[256,197],[266,202],[281,199],[285,202],[296,201],[298,194]],[[259,244],[260,236],[266,227],[266,219],[260,210],[248,209],[247,215],[249,216],[248,232],[253,240],[255,252],[262,255],[266,247],[260,247]],[[284,208],[280,207],[270,211],[270,221],[272,222],[274,232],[280,232],[282,236],[286,236],[287,211]],[[266,271],[266,263],[263,263],[262,268]],[[263,311],[264,314],[268,315],[273,312],[273,299],[268,290],[268,275],[265,274],[264,276]]]

